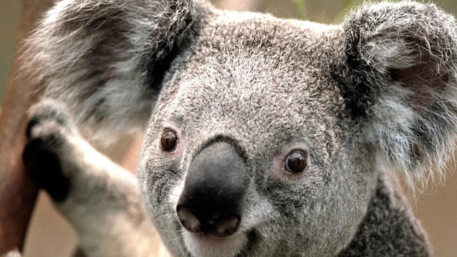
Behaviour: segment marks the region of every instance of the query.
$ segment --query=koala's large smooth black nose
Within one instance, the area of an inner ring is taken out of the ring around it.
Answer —
[[[176,211],[186,230],[217,237],[232,235],[240,224],[249,176],[245,161],[228,142],[203,148],[188,168]]]

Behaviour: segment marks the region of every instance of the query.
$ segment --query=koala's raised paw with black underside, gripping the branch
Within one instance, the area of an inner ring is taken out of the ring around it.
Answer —
[[[63,202],[70,191],[70,179],[63,173],[60,157],[72,133],[72,124],[60,103],[43,100],[31,107],[22,157],[32,178],[56,202]]]

